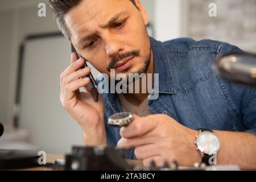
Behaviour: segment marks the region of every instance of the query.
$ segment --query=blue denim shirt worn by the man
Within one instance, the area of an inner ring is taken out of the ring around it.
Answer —
[[[212,69],[216,56],[241,49],[228,43],[189,38],[164,43],[150,38],[150,42],[154,73],[159,73],[159,97],[147,102],[153,113],[165,113],[194,130],[246,131],[256,135],[256,89],[222,80]],[[110,115],[122,109],[116,94],[101,96],[106,123]],[[121,139],[119,128],[105,126],[108,145],[115,146]],[[126,157],[132,156],[131,148]]]

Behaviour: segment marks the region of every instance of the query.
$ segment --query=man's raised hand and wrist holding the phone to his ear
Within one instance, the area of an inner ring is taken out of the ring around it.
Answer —
[[[94,102],[90,93],[79,92],[90,81],[89,77],[81,78],[89,75],[90,68],[80,69],[85,60],[77,59],[76,53],[71,53],[71,65],[60,75],[61,104],[82,127],[86,145],[106,144],[104,102],[100,95]]]

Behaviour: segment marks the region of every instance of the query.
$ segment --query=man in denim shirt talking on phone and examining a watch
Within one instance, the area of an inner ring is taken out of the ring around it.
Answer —
[[[77,91],[88,84],[81,77],[90,69],[79,69],[84,59],[72,53],[60,76],[60,100],[82,127],[85,145],[130,148],[127,158],[146,166],[152,160],[210,164],[217,157],[217,164],[256,167],[256,90],[221,80],[210,67],[216,56],[240,49],[212,40],[157,42],[148,37],[148,16],[139,0],[50,3],[63,34],[101,73],[110,76],[113,68],[116,74],[159,74],[156,100],[146,93],[104,93],[94,102]],[[106,125],[110,115],[124,110],[139,115],[121,130]]]

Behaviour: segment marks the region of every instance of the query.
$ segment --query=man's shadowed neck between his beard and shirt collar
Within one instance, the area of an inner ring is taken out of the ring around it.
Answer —
[[[148,69],[147,69],[147,72],[146,72],[146,80],[148,79],[148,73],[153,73],[153,71],[154,71],[154,57],[153,57],[152,50],[151,50],[151,58],[150,58],[150,60],[151,60],[150,61],[150,65],[148,66]],[[140,78],[140,80],[141,80],[141,78]],[[135,82],[133,83],[133,88],[135,88]],[[148,96],[147,92],[146,93],[142,93],[142,82],[141,81],[139,81],[139,88],[140,88],[139,93],[132,93],[132,94],[131,93],[126,93],[126,94],[123,94],[123,96],[125,96],[126,100],[129,101],[131,104],[133,104],[135,106],[140,105]],[[146,84],[146,88],[147,88],[147,84]]]

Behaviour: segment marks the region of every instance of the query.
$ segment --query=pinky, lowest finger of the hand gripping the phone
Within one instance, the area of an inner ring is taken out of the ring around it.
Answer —
[[[79,80],[75,80],[65,85],[64,101],[67,102],[71,100],[71,98],[75,96],[75,91],[82,86],[86,86],[87,84],[89,84],[89,82],[90,82],[90,78],[81,78]]]

